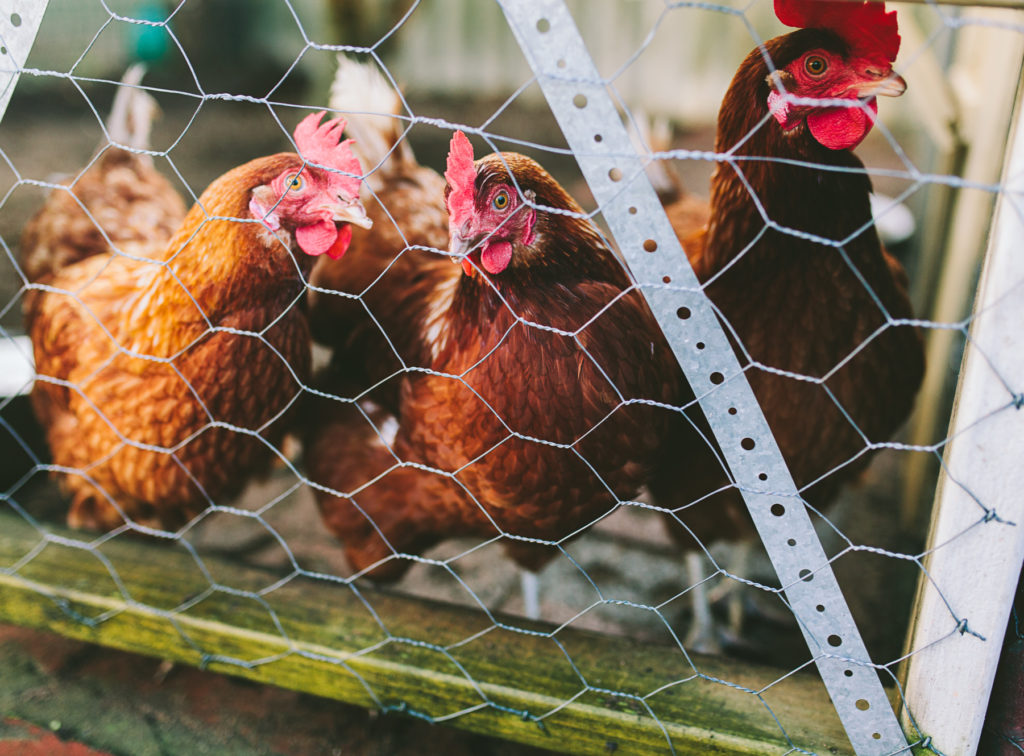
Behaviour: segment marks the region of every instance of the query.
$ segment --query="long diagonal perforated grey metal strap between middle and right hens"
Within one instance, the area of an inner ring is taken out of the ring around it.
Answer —
[[[865,756],[907,750],[771,429],[565,3],[498,2],[630,269],[700,397],[854,749]]]

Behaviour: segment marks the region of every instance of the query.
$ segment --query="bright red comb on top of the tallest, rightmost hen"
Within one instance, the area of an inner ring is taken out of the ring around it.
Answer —
[[[899,52],[896,11],[884,2],[858,0],[775,0],[775,15],[787,27],[829,29],[854,53],[882,53],[891,62]]]

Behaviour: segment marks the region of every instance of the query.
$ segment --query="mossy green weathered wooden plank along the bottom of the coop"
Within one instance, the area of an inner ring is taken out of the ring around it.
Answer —
[[[675,647],[304,576],[262,596],[211,592],[180,545],[118,537],[90,550],[47,532],[72,545],[38,550],[40,534],[0,509],[0,620],[568,753],[665,753],[670,741],[684,754],[851,753],[813,673],[691,664]],[[232,590],[282,578],[203,563]]]

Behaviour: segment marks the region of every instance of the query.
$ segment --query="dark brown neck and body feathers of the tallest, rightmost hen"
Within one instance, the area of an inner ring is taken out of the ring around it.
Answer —
[[[822,30],[794,32],[765,46],[778,69],[808,49],[844,49],[842,40]],[[819,144],[806,126],[782,132],[774,120],[761,123],[767,75],[756,49],[723,100],[716,152],[735,150],[736,160],[721,163],[712,177],[709,221],[693,222],[699,214],[688,198],[690,204],[666,209],[739,342],[741,363],[814,379],[746,371],[797,485],[821,506],[864,469],[873,454],[869,445],[888,440],[909,414],[924,370],[922,339],[913,326],[888,324],[912,318],[912,311],[902,265],[882,248],[870,223],[863,165],[849,151]],[[781,226],[848,241],[837,248],[765,229],[752,195]],[[695,462],[684,476],[673,469],[680,457]],[[651,490],[658,504],[676,510],[707,543],[753,534],[734,490],[684,508],[727,486],[712,450],[688,436],[670,447]],[[683,529],[677,532],[690,541]]]

